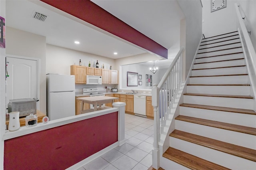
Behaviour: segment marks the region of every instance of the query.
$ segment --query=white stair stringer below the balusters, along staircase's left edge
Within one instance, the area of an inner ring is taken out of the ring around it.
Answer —
[[[160,134],[160,141],[158,142],[159,150],[160,150],[160,167],[164,169],[168,169],[168,164],[166,164],[168,161],[166,158],[164,158],[162,155],[164,152],[170,147],[170,136],[169,134],[175,129],[175,118],[180,115],[180,104],[183,103],[183,94],[187,91],[187,84],[190,83],[190,76],[192,76],[192,68],[194,67],[194,62],[197,57],[197,51],[200,47],[200,43],[202,42],[202,38],[200,42],[198,43],[198,47],[196,49],[196,53],[194,55],[193,61],[191,63],[188,75],[186,77],[185,83],[182,83],[180,90],[177,94],[177,99],[175,99],[175,103],[173,104],[173,108],[171,109],[171,114],[168,117],[168,120],[166,120],[166,126],[163,129],[163,133]],[[170,162],[169,162],[170,163]],[[180,167],[177,163],[174,162],[177,167]],[[184,167],[184,166],[182,166]],[[181,168],[181,167],[180,167]],[[185,167],[184,167],[185,168]],[[185,168],[186,169],[186,168]]]

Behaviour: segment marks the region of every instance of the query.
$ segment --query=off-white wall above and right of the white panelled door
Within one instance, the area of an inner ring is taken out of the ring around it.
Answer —
[[[40,59],[40,108],[46,113],[46,37],[6,27],[6,54]]]

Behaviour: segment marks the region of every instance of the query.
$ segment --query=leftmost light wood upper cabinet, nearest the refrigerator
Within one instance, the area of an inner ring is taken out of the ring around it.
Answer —
[[[75,75],[75,83],[86,83],[86,67],[70,65],[70,75]]]

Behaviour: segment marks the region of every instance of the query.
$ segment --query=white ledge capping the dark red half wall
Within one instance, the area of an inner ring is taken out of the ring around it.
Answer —
[[[100,110],[100,111],[95,111],[95,112],[90,112],[90,113],[85,113],[85,114],[81,114],[81,115],[75,115],[75,116],[71,116],[71,117],[65,117],[62,119],[56,119],[53,121],[48,121],[48,123],[38,123],[36,126],[34,127],[20,127],[19,130],[16,131],[9,131],[6,130],[4,135],[3,135],[3,140],[8,140],[11,138],[16,138],[18,136],[23,136],[26,134],[31,134],[34,132],[39,132],[42,130],[46,130],[46,129],[50,129],[50,128],[54,128],[54,127],[59,127],[62,125],[67,125],[70,123],[74,123],[74,122],[78,122],[78,121],[82,121],[85,119],[90,119],[93,117],[98,117],[101,115],[106,115],[109,113],[113,113],[118,111],[117,108],[109,108],[109,109],[104,109],[104,110]]]

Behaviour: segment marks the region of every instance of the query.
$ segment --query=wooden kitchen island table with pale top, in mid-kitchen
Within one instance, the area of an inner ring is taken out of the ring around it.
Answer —
[[[109,107],[101,107],[101,105],[105,104],[105,103],[113,103],[115,99],[118,99],[118,97],[90,96],[90,97],[78,97],[77,99],[82,101],[80,112],[88,113],[88,112],[92,112],[92,111],[109,108]],[[94,109],[83,110],[84,103],[89,103],[89,104],[94,105]],[[99,105],[99,107],[97,107],[98,105]]]

